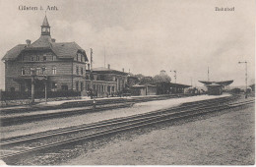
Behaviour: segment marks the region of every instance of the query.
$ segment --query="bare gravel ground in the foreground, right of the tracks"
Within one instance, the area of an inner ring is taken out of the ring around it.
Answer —
[[[61,165],[252,165],[254,104],[108,140]]]

